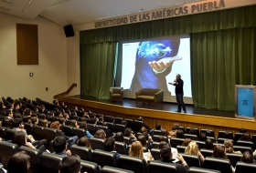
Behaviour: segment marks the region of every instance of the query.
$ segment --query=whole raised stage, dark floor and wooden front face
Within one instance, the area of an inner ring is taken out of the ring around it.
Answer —
[[[123,101],[101,100],[95,97],[58,97],[59,101],[64,101],[69,107],[88,107],[92,112],[109,115],[114,117],[123,117],[136,119],[139,116],[144,117],[144,122],[151,127],[160,122],[162,127],[169,130],[173,123],[177,122],[184,127],[198,127],[199,129],[214,129],[216,135],[219,130],[227,130],[236,133],[240,127],[249,130],[249,133],[256,134],[256,121],[241,119],[235,117],[234,111],[223,111],[217,109],[198,108],[192,105],[186,105],[187,114],[177,113],[176,104],[164,103],[150,104],[138,102],[135,99],[123,98]]]

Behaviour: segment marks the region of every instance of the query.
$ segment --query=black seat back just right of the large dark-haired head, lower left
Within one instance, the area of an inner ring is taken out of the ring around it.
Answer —
[[[76,144],[70,147],[72,155],[79,155],[80,159],[92,161],[91,148],[81,147]]]

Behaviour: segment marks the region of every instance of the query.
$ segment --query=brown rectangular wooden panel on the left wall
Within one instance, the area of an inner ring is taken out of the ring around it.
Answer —
[[[16,24],[17,65],[38,65],[37,25]]]

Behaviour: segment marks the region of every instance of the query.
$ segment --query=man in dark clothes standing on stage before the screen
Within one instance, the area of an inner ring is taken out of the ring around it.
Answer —
[[[176,86],[176,102],[177,102],[176,112],[181,112],[181,107],[182,107],[184,113],[187,113],[185,104],[183,102],[183,80],[180,77],[181,76],[177,74],[176,80],[174,81],[174,83],[169,82],[168,84]]]

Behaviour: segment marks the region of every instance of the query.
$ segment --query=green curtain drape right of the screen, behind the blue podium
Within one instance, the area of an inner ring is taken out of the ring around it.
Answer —
[[[256,85],[256,29],[234,28],[191,36],[195,107],[235,109],[235,85]]]

